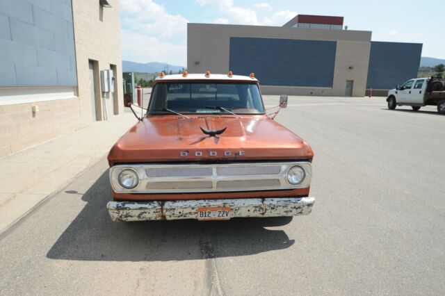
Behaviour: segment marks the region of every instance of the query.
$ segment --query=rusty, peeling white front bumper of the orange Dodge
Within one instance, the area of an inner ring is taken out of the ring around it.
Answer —
[[[113,221],[197,219],[198,208],[229,207],[233,217],[284,217],[308,215],[314,197],[279,197],[265,199],[204,199],[153,202],[108,202]]]

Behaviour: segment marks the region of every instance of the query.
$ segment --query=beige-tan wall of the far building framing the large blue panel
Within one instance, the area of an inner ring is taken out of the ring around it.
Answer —
[[[187,69],[189,73],[229,71],[230,37],[281,38],[337,41],[332,88],[262,85],[264,94],[345,95],[346,81],[353,80],[353,96],[364,96],[368,75],[370,31],[283,28],[275,26],[241,26],[222,24],[188,24]],[[353,67],[353,69],[349,69]],[[260,81],[261,83],[261,81]]]

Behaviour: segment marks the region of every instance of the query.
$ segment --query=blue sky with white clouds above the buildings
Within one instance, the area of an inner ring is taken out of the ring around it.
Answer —
[[[373,41],[423,43],[445,58],[444,0],[120,0],[122,59],[186,67],[187,23],[282,26],[303,15],[343,16]]]

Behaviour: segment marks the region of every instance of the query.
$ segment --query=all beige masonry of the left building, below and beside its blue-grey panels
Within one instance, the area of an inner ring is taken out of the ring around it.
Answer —
[[[108,117],[124,112],[119,1],[108,2],[113,8],[100,8],[98,0],[72,1],[78,80],[74,93],[77,97],[54,100],[40,97],[38,101],[28,99],[22,104],[0,104],[0,157],[51,140],[92,122],[89,59],[97,61],[98,69],[116,66],[115,95],[107,95],[106,99]],[[99,85],[99,71],[96,76]],[[27,96],[23,94],[32,92],[29,88],[14,90],[16,94],[22,94],[22,99]],[[0,96],[1,91],[0,89]],[[100,97],[100,89],[97,93]],[[32,112],[33,105],[38,106],[38,113]],[[99,99],[96,105],[97,117],[101,120],[102,101]]]

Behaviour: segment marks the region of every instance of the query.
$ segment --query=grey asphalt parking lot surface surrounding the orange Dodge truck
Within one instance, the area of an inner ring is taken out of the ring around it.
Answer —
[[[290,97],[277,121],[314,149],[312,214],[111,222],[103,158],[0,234],[0,294],[443,295],[445,116]]]

